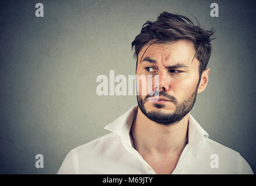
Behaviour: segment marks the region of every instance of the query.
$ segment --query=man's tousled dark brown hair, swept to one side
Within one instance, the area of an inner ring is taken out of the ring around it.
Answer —
[[[211,57],[211,41],[214,40],[212,38],[213,34],[213,28],[211,30],[203,30],[199,26],[198,20],[196,26],[185,16],[163,12],[157,18],[156,22],[147,21],[143,24],[141,33],[132,41],[132,49],[135,47],[134,58],[136,57],[136,69],[139,52],[145,45],[149,45],[148,47],[150,47],[154,43],[188,40],[194,44],[196,51],[194,57],[200,62],[199,76],[201,78],[202,71],[206,69]]]

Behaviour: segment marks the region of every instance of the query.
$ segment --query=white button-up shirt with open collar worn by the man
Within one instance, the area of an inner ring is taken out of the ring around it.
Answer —
[[[104,127],[111,133],[72,149],[57,174],[156,174],[131,144],[129,132],[138,105]],[[172,174],[253,174],[236,151],[208,138],[190,115],[188,144]]]

